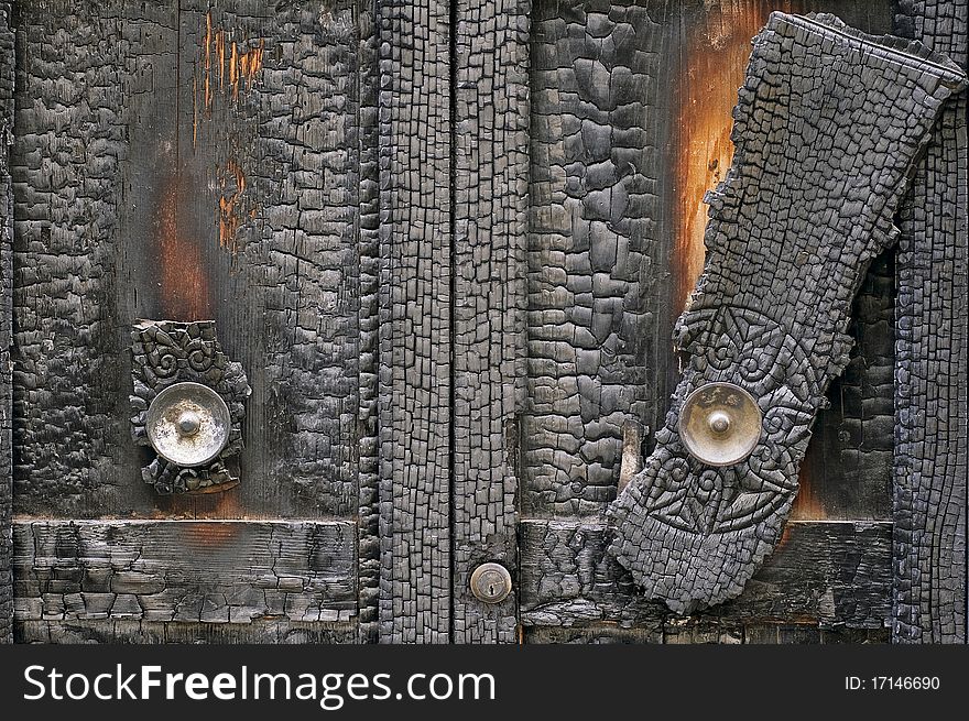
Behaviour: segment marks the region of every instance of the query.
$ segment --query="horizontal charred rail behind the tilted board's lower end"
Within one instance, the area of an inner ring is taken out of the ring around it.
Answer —
[[[645,599],[606,553],[601,523],[521,524],[520,591],[526,625],[622,626],[676,621]],[[733,625],[793,621],[825,627],[883,627],[891,609],[892,524],[799,522],[737,599],[694,614]]]

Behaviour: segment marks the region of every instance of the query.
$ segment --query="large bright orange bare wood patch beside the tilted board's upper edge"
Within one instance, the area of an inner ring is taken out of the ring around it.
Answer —
[[[676,314],[686,306],[704,269],[704,195],[723,179],[733,159],[730,130],[737,89],[743,84],[750,41],[771,9],[759,0],[733,0],[700,13],[687,26],[675,100]]]

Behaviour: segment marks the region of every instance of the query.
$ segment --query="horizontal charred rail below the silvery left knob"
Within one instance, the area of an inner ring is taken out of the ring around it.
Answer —
[[[348,621],[344,522],[15,521],[18,621]]]

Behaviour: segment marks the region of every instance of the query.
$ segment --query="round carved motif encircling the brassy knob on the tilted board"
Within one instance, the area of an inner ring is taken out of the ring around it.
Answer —
[[[693,310],[678,334],[683,349],[693,353],[687,387],[726,381],[747,390],[763,415],[761,439],[744,461],[707,467],[684,446],[674,407],[641,472],[644,510],[658,522],[705,536],[753,526],[797,491],[792,471],[816,411],[808,354],[780,324],[748,308]]]

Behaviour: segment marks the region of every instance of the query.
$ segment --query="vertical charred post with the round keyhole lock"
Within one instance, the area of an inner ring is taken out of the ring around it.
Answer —
[[[483,561],[515,566],[524,370],[531,0],[456,6],[454,641],[515,641],[515,596],[475,599]]]

